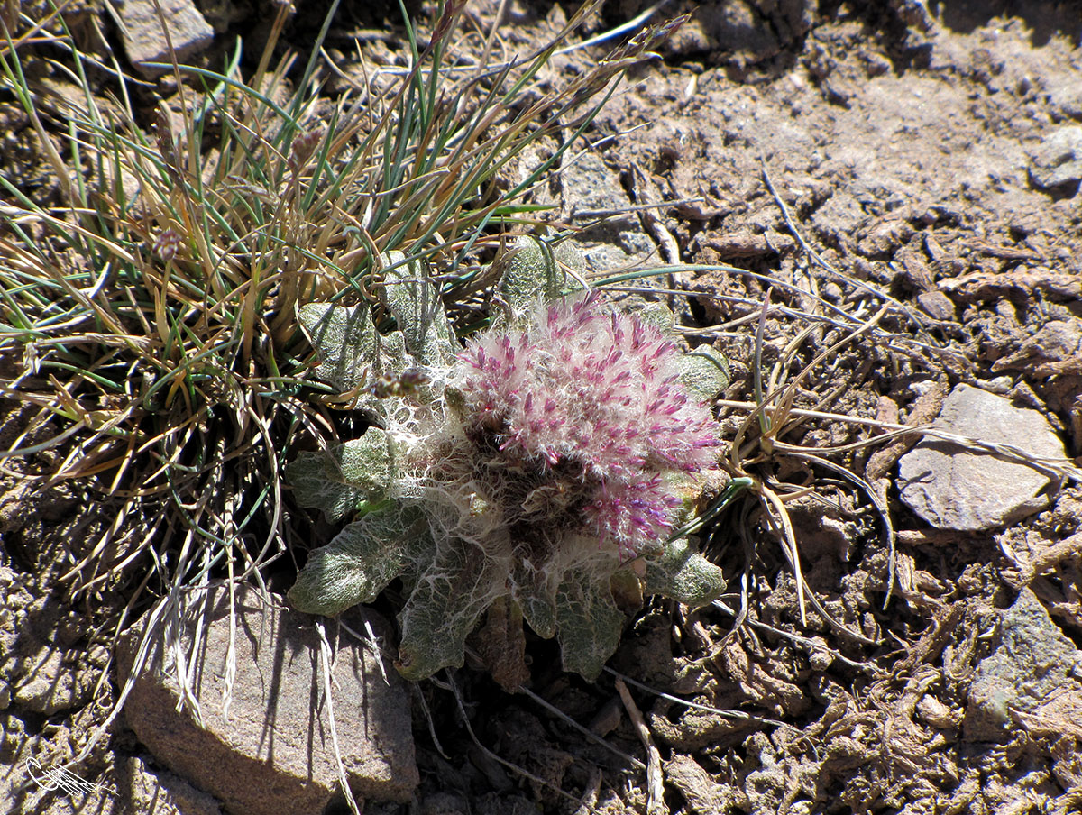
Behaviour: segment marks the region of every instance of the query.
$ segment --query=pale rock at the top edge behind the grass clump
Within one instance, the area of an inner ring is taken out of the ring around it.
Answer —
[[[159,0],[158,3],[121,0],[115,5],[128,58],[145,76],[157,77],[164,73],[161,68],[147,67],[146,63],[169,63],[174,55],[177,62],[184,62],[214,39],[214,29],[207,25],[192,0]]]

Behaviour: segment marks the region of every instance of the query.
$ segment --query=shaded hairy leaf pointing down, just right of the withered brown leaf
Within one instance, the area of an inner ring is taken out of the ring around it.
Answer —
[[[568,573],[556,592],[556,625],[564,670],[590,681],[620,644],[624,617],[617,608],[609,581],[589,571]]]

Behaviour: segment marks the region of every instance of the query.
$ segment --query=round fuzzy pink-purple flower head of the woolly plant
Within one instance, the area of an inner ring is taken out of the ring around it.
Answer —
[[[669,534],[681,500],[664,475],[715,465],[717,424],[681,384],[675,346],[596,292],[459,358],[475,474],[512,526],[589,531],[630,558]]]

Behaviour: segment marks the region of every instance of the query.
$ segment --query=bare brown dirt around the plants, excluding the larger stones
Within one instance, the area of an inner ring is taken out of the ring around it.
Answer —
[[[219,10],[222,30],[256,29],[254,10],[229,5],[228,16]],[[476,3],[483,28],[497,5]],[[646,5],[608,3],[583,36]],[[342,11],[329,40],[346,75],[352,35],[384,27],[356,6]],[[213,10],[203,11],[214,22]],[[1042,413],[1077,461],[1082,135],[1072,129],[1082,128],[1082,8],[740,0],[671,3],[663,13],[682,11],[691,19],[590,133],[594,143],[616,137],[547,190],[563,208],[556,221],[582,225],[591,211],[622,207],[583,236],[608,241],[591,244],[598,263],[745,271],[692,270],[667,281],[691,293],[682,301],[685,325],[709,329],[703,336],[730,357],[729,403],[754,398],[750,370],[767,288],[779,307],[764,324],[764,364],[795,342],[795,369],[843,337],[823,324],[800,336],[808,323],[793,315],[809,307],[809,294],[861,319],[887,297],[897,307],[883,331],[817,364],[799,407],[817,408],[833,394],[822,409],[915,424],[966,383]],[[565,18],[560,4],[533,0],[509,3],[506,14],[511,51]],[[299,44],[305,25],[300,15],[290,35]],[[365,43],[371,58],[401,53],[393,37]],[[573,71],[580,58],[559,57],[553,70]],[[10,102],[0,116],[3,172],[48,199],[54,186],[37,174],[26,122]],[[672,203],[634,209],[663,202]],[[5,429],[17,426],[19,409],[9,404],[5,412]],[[735,429],[747,411],[723,416]],[[4,432],[6,448],[13,430]],[[860,424],[819,421],[783,441],[842,447],[868,435]],[[1082,695],[1073,685],[1025,710],[1008,704],[1017,688],[1000,688],[1000,728],[974,710],[985,660],[1004,643],[1020,637],[1012,647],[1024,647],[1031,629],[1082,643],[1082,489],[1068,481],[1043,508],[999,528],[936,529],[899,500],[902,451],[883,445],[837,459],[881,497],[897,533],[897,582],[885,608],[890,553],[868,495],[807,457],[757,465],[763,477],[813,488],[789,502],[804,576],[847,633],[814,609],[802,621],[778,537],[754,503],[725,515],[709,541],[731,575],[725,602],[745,609],[739,628],[720,608],[684,615],[668,604],[629,627],[610,665],[645,686],[632,693],[659,751],[656,812],[1082,812]],[[116,693],[114,676],[98,683],[108,661],[92,630],[98,609],[68,607],[57,587],[74,556],[69,541],[93,539],[113,521],[109,508],[88,507],[78,485],[28,495],[17,468],[0,495],[0,765],[8,767],[78,752]],[[1001,609],[1019,609],[1027,587],[1044,610],[1012,622]],[[415,804],[373,802],[366,812],[646,811],[647,775],[625,758],[645,761],[644,746],[612,675],[588,684],[546,667],[558,665],[550,644],[529,647],[532,692],[616,751],[465,669],[459,684],[477,741],[453,699],[424,684],[438,744],[418,713]],[[1080,678],[1064,661],[1069,649],[1048,653],[1052,665],[1041,671]],[[53,661],[42,670],[35,660]],[[30,673],[49,687],[28,689],[22,678]],[[57,701],[42,704],[47,697]],[[83,776],[108,780],[140,754],[133,734],[117,725]],[[80,811],[63,791],[34,800],[41,812]],[[101,811],[120,812],[113,805]]]

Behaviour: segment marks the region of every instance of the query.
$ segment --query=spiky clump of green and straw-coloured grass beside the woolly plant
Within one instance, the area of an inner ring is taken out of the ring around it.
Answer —
[[[286,551],[285,451],[338,432],[312,397],[299,308],[359,304],[386,323],[381,258],[422,262],[451,307],[471,290],[476,252],[535,223],[524,196],[667,32],[536,92],[595,5],[539,53],[463,74],[465,3],[444,3],[425,42],[407,21],[408,66],[380,76],[387,90],[338,98],[321,94],[331,16],[303,69],[291,54],[272,67],[282,5],[250,76],[239,45],[221,71],[162,66],[177,93],[153,110],[145,83],[80,50],[62,16],[4,21],[0,83],[61,201],[0,179],[0,355],[18,360],[0,394],[32,406],[3,455],[51,450],[39,483],[80,479],[116,502],[117,522],[68,573],[76,592],[126,575],[176,587],[258,574]],[[79,93],[57,102],[43,73]],[[501,187],[541,140],[551,157]]]

